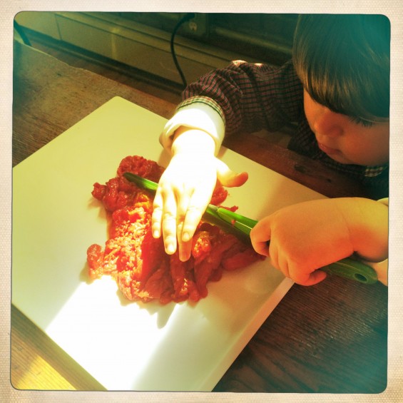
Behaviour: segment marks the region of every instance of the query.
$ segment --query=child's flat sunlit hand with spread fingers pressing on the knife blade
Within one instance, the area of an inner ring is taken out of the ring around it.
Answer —
[[[164,238],[165,252],[182,261],[190,257],[195,229],[210,203],[217,179],[224,186],[240,186],[247,173],[233,173],[214,156],[215,143],[203,131],[180,131],[173,157],[158,183],[153,203],[153,237]]]

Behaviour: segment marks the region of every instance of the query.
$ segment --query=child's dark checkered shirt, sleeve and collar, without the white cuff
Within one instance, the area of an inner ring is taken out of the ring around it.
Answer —
[[[297,130],[288,148],[352,175],[369,188],[374,198],[388,195],[389,164],[371,167],[341,164],[318,148],[305,118],[302,83],[292,61],[280,68],[234,61],[227,68],[215,70],[191,83],[183,92],[183,102],[178,109],[195,103],[207,104],[220,113],[226,136],[262,128],[277,131],[287,123],[296,123]]]

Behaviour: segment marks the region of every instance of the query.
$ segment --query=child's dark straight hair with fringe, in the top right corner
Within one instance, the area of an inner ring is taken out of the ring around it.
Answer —
[[[367,121],[389,118],[390,23],[369,14],[302,14],[292,59],[311,98]]]

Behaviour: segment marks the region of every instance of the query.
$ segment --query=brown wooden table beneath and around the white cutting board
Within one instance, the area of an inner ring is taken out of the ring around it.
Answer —
[[[14,53],[13,164],[113,96],[169,118],[175,106],[19,43]],[[359,184],[264,138],[225,146],[329,197]],[[11,382],[19,389],[101,385],[11,307]],[[334,277],[294,285],[216,385],[215,392],[379,393],[387,385],[387,287]]]

